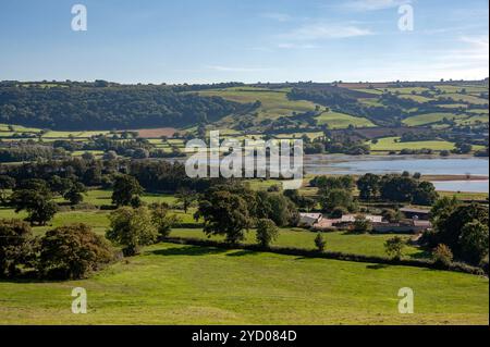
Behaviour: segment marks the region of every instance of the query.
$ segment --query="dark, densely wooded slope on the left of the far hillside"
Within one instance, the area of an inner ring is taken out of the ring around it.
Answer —
[[[0,123],[50,129],[184,127],[253,108],[220,97],[177,92],[169,86],[0,84]]]

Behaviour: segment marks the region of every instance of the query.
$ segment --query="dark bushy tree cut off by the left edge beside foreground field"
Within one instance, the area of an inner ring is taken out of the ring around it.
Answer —
[[[0,220],[0,277],[12,277],[34,258],[30,226],[20,220]]]

